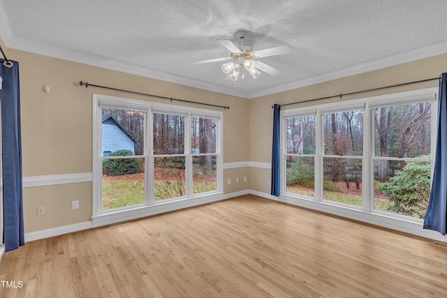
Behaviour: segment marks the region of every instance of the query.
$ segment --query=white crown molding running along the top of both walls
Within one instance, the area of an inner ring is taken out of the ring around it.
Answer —
[[[395,54],[393,56],[385,57],[382,59],[376,59],[366,62],[364,64],[358,64],[349,68],[342,68],[334,70],[328,73],[320,75],[314,75],[313,77],[307,77],[303,80],[290,82],[287,84],[281,84],[272,88],[262,89],[256,92],[244,92],[237,91],[235,89],[228,89],[226,87],[220,87],[215,84],[209,84],[207,82],[189,79],[179,75],[172,75],[163,71],[145,68],[137,66],[135,64],[128,64],[122,61],[110,60],[104,57],[94,56],[91,54],[85,54],[77,52],[75,50],[69,50],[64,47],[57,47],[54,45],[43,45],[31,40],[25,40],[23,38],[10,38],[9,30],[3,27],[3,23],[7,23],[5,20],[1,20],[1,8],[0,8],[0,38],[6,47],[13,48],[15,50],[22,50],[25,52],[32,52],[35,54],[41,54],[43,56],[54,57],[58,59],[64,59],[77,63],[87,64],[90,66],[97,66],[110,70],[117,70],[124,73],[130,73],[133,75],[140,75],[142,77],[149,77],[155,80],[162,80],[165,82],[172,82],[175,84],[182,84],[189,87],[195,87],[198,89],[204,89],[208,91],[218,92],[221,94],[228,94],[230,96],[237,96],[242,98],[258,98],[261,96],[267,96],[270,94],[276,94],[283,91],[297,89],[300,87],[309,86],[312,84],[318,84],[321,82],[328,82],[330,80],[336,80],[342,77],[349,77],[350,75],[358,75],[360,73],[367,73],[372,70],[378,70],[380,68],[386,68],[389,66],[395,66],[397,64],[403,64],[406,62],[416,61],[428,57],[437,56],[439,54],[447,53],[447,42],[437,43],[427,47],[421,47],[409,52],[403,52]]]

